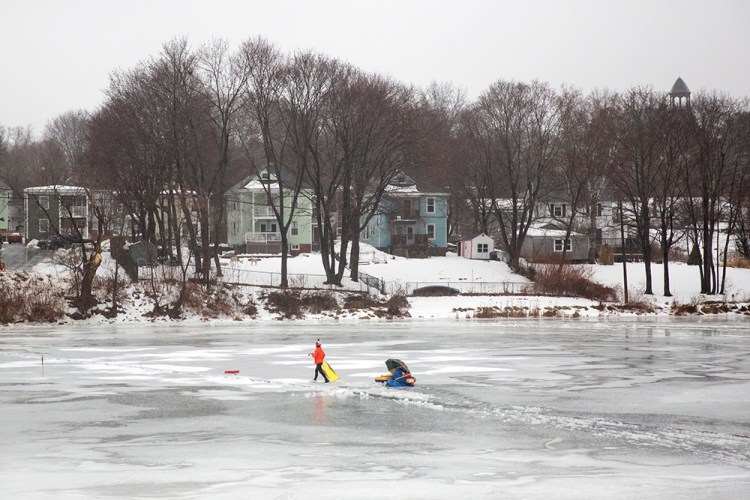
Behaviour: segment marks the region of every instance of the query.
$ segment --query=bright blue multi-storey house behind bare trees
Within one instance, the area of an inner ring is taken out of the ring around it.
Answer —
[[[386,188],[360,241],[406,257],[445,255],[448,194],[420,192],[414,180],[399,174]]]

